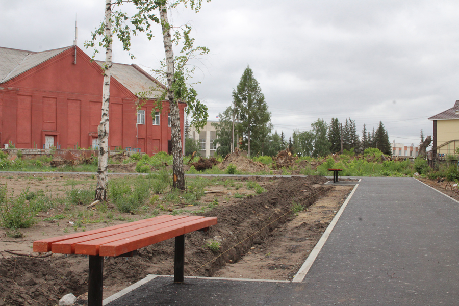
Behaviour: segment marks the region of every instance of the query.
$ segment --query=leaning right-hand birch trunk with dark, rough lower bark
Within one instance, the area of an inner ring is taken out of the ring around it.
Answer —
[[[174,53],[170,35],[170,25],[167,18],[167,8],[165,5],[159,7],[161,27],[163,30],[164,51],[166,53],[166,78],[167,78],[167,97],[169,98],[171,142],[172,142],[172,171],[173,188],[185,190],[185,172],[183,171],[182,141],[180,135],[180,111],[177,101],[174,99],[172,84],[174,83]]]

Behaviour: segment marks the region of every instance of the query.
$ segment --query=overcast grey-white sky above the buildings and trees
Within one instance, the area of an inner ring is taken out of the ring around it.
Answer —
[[[205,2],[205,1],[204,1]],[[84,41],[104,18],[104,0],[0,0],[0,46],[43,51]],[[129,8],[126,7],[126,10]],[[436,115],[459,99],[457,1],[213,0],[198,14],[179,7],[172,23],[189,23],[195,45],[210,54],[197,62],[195,86],[209,119],[232,103],[250,65],[280,134],[309,130],[332,117],[355,120],[359,135],[382,121],[392,142],[419,144]],[[121,44],[114,62],[147,71],[164,58],[158,27],[148,41]],[[103,56],[97,57],[103,60]]]

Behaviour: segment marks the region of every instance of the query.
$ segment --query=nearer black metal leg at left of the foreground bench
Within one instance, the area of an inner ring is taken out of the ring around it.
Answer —
[[[89,256],[88,306],[102,306],[104,257]]]

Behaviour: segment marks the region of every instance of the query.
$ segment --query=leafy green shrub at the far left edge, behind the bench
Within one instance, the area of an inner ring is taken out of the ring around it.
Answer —
[[[25,200],[25,193],[7,199],[7,187],[0,188],[0,224],[6,228],[27,228],[35,224],[35,209]]]

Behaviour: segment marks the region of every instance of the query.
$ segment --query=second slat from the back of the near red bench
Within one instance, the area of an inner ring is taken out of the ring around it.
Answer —
[[[182,218],[185,218],[186,216],[167,216],[164,218],[157,218],[154,220],[150,220],[148,222],[143,222],[143,223],[138,223],[138,224],[133,224],[131,226],[124,226],[121,228],[115,228],[110,231],[104,231],[101,233],[96,233],[92,235],[86,235],[86,236],[81,236],[73,239],[66,239],[62,241],[55,242],[51,245],[51,250],[53,253],[61,253],[61,254],[73,254],[75,253],[75,244],[85,242],[85,241],[90,241],[90,240],[95,240],[98,238],[104,238],[104,237],[110,237],[112,235],[116,234],[122,234],[122,233],[130,233],[131,231],[138,230],[140,228],[145,228],[149,227],[152,225],[163,225],[163,223],[174,221],[174,220],[180,220]],[[130,223],[127,223],[130,224]],[[112,227],[107,227],[107,229],[111,229]]]

